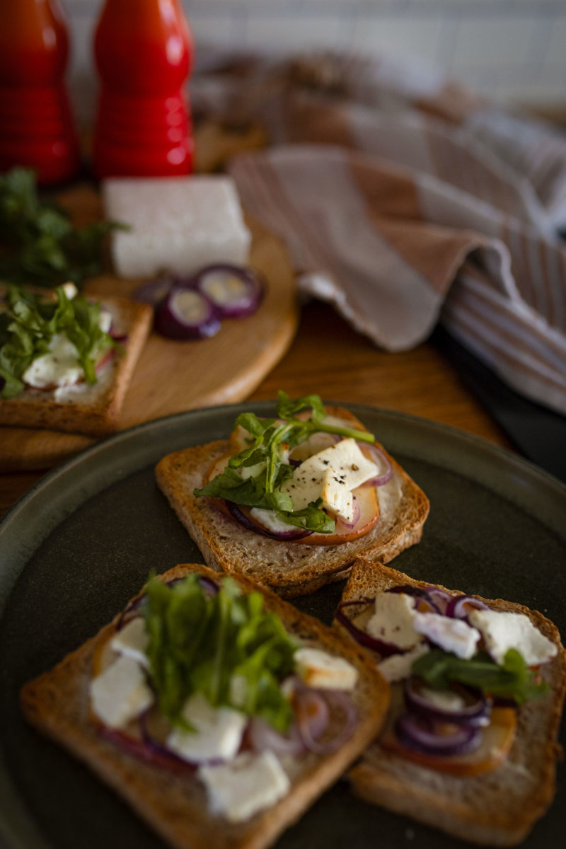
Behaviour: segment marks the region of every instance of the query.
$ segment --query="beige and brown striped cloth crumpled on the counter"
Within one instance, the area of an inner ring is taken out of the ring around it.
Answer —
[[[252,61],[216,82],[201,106],[269,132],[229,170],[305,293],[387,351],[440,321],[566,413],[565,136],[384,60]]]

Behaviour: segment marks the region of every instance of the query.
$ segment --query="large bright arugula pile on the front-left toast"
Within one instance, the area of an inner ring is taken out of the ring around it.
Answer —
[[[220,579],[219,579],[220,582]],[[150,579],[143,606],[149,635],[149,669],[160,711],[187,727],[182,707],[194,692],[212,706],[227,705],[286,731],[293,711],[279,683],[294,668],[293,638],[261,593],[244,595],[229,577],[216,595],[205,595],[199,576],[174,584]],[[231,683],[244,681],[244,704],[235,704]]]

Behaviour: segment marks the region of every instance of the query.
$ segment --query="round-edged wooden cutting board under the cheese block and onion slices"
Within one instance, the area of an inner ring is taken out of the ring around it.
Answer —
[[[77,225],[103,216],[94,189],[73,188],[60,196]],[[231,319],[211,339],[179,342],[152,334],[126,395],[120,430],[183,410],[244,400],[288,350],[297,329],[294,273],[283,244],[258,222],[252,232],[250,265],[267,279],[261,306],[248,318]],[[131,295],[139,280],[111,274],[92,278],[93,295]],[[92,445],[89,436],[54,430],[0,427],[0,471],[50,469]]]

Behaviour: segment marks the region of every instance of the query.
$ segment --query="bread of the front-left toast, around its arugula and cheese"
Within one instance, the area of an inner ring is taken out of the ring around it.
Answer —
[[[217,579],[202,565],[177,565],[165,572],[171,580],[190,571]],[[244,592],[257,590],[242,576],[235,580]],[[367,655],[350,640],[290,604],[264,591],[267,610],[277,613],[289,633],[321,649],[342,655],[356,666],[358,681],[351,698],[357,709],[356,729],[338,751],[295,759],[291,789],[271,808],[243,823],[231,824],[210,812],[205,788],[193,772],[172,773],[117,748],[89,722],[88,682],[93,655],[115,627],[104,627],[59,666],[25,685],[21,706],[28,722],[64,745],[113,787],[150,826],[177,849],[262,849],[294,823],[322,792],[344,773],[378,732],[389,703],[389,685],[375,672]]]

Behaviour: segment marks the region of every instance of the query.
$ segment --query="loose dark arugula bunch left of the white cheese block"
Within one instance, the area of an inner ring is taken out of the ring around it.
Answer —
[[[6,283],[80,284],[103,270],[103,242],[118,222],[74,228],[59,205],[40,200],[34,171],[0,174],[0,279]]]

